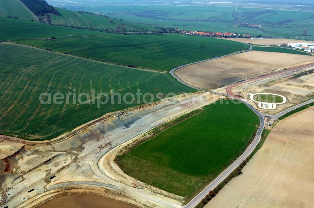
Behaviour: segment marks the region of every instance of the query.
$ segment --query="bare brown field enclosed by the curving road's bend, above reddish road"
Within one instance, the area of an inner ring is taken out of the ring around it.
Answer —
[[[313,57],[249,51],[182,67],[176,70],[176,75],[192,86],[212,90],[309,60]]]

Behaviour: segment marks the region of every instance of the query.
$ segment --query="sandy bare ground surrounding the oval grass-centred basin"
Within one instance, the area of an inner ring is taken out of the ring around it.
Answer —
[[[305,75],[298,78],[295,78],[295,75],[292,75],[274,81],[245,83],[234,87],[233,91],[241,91],[241,96],[245,99],[249,99],[248,93],[275,93],[285,96],[287,102],[277,105],[277,108],[274,110],[258,108],[257,103],[254,103],[249,99],[250,103],[259,111],[268,114],[276,114],[291,106],[314,98],[314,70],[301,72],[301,74]]]

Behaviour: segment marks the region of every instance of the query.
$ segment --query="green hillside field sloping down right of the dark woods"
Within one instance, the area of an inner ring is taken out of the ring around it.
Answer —
[[[145,24],[129,23],[100,15],[76,12],[60,8],[57,8],[57,10],[60,15],[52,15],[51,24],[111,32],[156,30],[153,29],[153,27]],[[117,30],[117,26],[120,27],[119,30]]]

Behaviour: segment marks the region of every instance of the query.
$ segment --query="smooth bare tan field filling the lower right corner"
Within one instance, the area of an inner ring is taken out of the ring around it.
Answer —
[[[262,148],[219,191],[211,207],[312,207],[314,108],[280,121]]]

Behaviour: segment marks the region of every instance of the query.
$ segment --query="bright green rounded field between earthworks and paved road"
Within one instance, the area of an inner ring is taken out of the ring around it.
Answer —
[[[245,150],[258,124],[245,104],[217,101],[119,156],[120,165],[126,174],[188,199]]]

